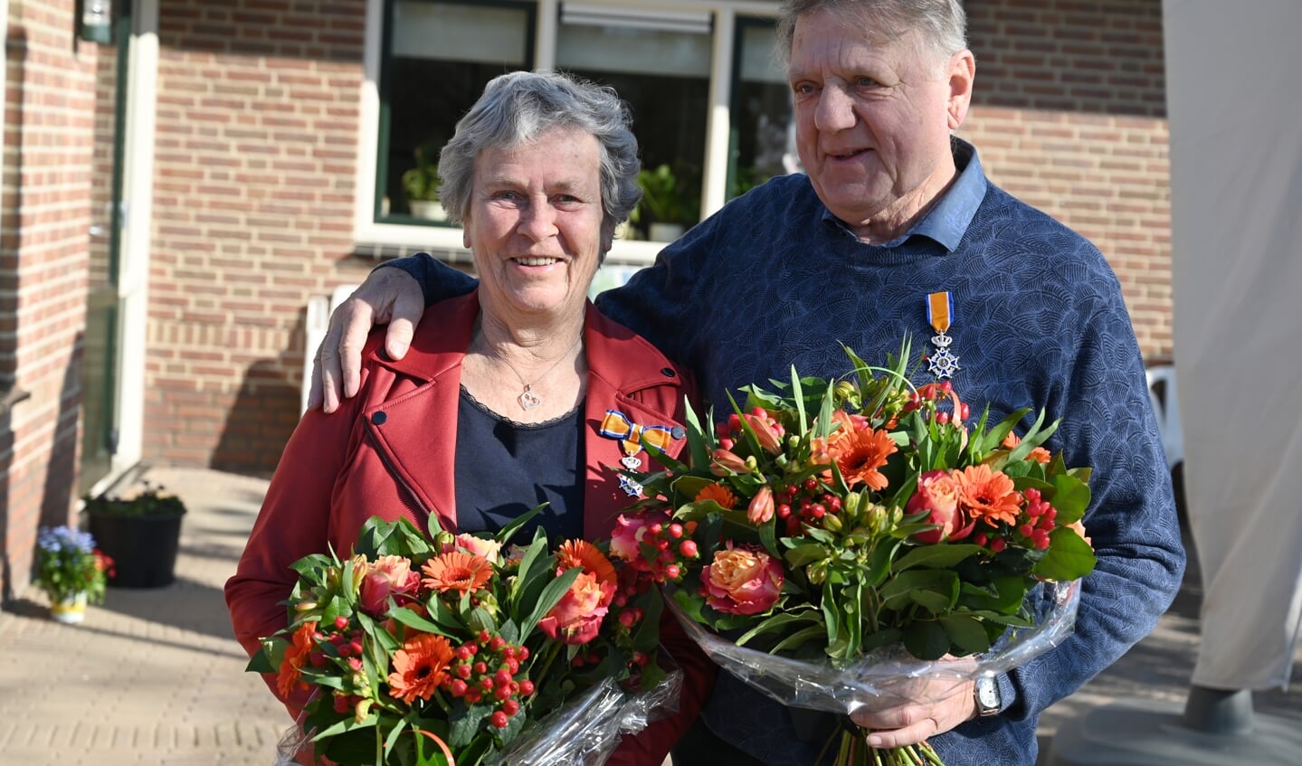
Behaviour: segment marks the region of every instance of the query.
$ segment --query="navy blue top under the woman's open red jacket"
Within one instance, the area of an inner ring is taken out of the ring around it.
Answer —
[[[516,423],[461,389],[457,406],[457,532],[497,532],[549,503],[512,542],[527,545],[539,525],[549,540],[583,537],[582,404],[546,423]],[[522,502],[533,498],[533,503]]]

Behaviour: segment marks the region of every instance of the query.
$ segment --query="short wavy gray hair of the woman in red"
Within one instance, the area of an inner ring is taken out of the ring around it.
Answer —
[[[638,139],[628,105],[613,88],[555,72],[512,72],[488,81],[475,105],[457,121],[457,133],[439,155],[439,199],[453,224],[470,205],[475,157],[488,147],[513,148],[553,129],[596,138],[602,161],[602,208],[613,228],[642,199]]]

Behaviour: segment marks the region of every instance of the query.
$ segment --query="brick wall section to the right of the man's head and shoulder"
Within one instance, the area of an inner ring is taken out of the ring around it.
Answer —
[[[967,0],[961,135],[991,179],[1094,242],[1146,358],[1172,352],[1161,0]]]

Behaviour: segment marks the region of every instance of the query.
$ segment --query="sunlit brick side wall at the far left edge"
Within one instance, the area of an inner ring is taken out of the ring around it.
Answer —
[[[0,593],[29,580],[36,528],[72,519],[86,329],[86,185],[98,47],[73,0],[9,4],[0,203]]]

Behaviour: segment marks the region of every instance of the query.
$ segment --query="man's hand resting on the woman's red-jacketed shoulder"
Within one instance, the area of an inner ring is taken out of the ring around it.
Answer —
[[[329,315],[326,339],[312,358],[307,407],[320,406],[324,412],[333,412],[342,399],[357,395],[362,380],[362,347],[372,326],[389,323],[384,350],[392,359],[406,356],[415,323],[423,312],[424,293],[411,274],[398,268],[372,271]]]

